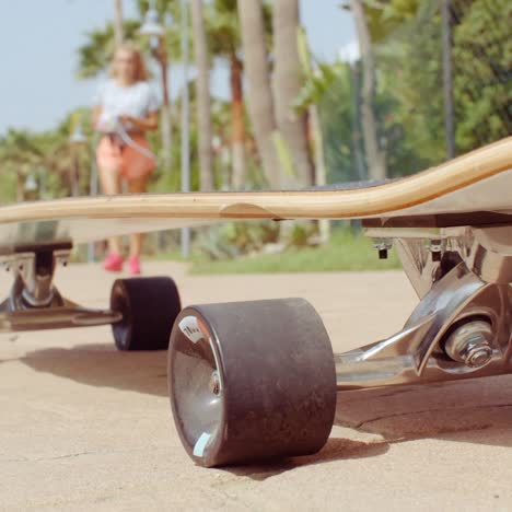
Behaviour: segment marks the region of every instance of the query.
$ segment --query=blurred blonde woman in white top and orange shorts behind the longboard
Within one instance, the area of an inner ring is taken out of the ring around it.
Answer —
[[[102,190],[120,194],[123,181],[128,191],[147,191],[154,158],[146,138],[147,131],[158,129],[159,101],[148,82],[140,50],[131,43],[116,49],[110,79],[103,83],[94,100],[93,125],[102,133],[96,161]],[[130,237],[128,271],[140,274],[142,235]],[[124,258],[118,238],[108,241],[105,270],[123,270]]]

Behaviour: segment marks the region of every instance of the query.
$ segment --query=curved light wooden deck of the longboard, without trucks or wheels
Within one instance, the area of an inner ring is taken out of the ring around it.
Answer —
[[[0,208],[0,252],[61,241],[248,219],[396,219],[512,214],[512,137],[385,183],[312,190],[144,194]]]

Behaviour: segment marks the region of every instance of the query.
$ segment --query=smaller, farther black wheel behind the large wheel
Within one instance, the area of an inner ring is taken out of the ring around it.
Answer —
[[[119,350],[165,350],[181,311],[179,294],[168,277],[117,279],[110,310],[123,314],[112,325]]]

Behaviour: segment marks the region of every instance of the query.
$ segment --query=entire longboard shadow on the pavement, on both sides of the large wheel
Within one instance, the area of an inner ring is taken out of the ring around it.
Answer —
[[[90,386],[167,395],[164,351],[118,352],[110,344],[81,345],[35,350],[21,361],[35,371]],[[305,465],[379,456],[389,444],[419,438],[512,446],[512,374],[340,392],[335,424],[379,437],[368,442],[331,437],[312,456],[226,470],[263,480]]]

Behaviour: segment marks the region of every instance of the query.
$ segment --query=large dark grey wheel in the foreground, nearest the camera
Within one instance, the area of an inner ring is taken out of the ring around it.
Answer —
[[[168,350],[174,421],[201,466],[309,455],[336,409],[333,349],[302,299],[186,307]]]

